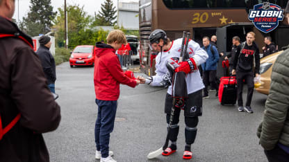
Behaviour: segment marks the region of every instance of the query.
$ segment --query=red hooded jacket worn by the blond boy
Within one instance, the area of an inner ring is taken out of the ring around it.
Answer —
[[[136,81],[124,75],[115,49],[108,44],[97,42],[94,60],[94,90],[98,100],[117,100],[119,83],[135,87]]]

